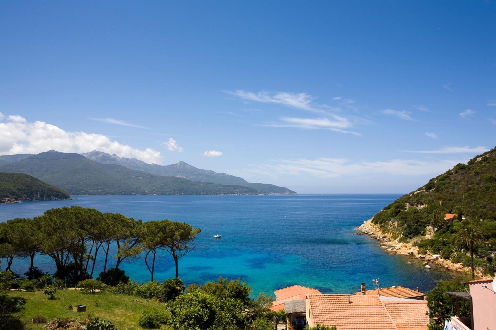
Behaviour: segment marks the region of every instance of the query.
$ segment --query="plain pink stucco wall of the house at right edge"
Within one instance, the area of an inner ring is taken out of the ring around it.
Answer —
[[[472,330],[496,330],[496,293],[492,281],[468,283],[474,304],[474,326]],[[487,285],[487,288],[483,286]]]

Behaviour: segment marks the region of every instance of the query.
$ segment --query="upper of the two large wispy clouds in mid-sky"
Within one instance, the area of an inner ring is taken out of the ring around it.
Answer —
[[[326,113],[324,110],[319,109],[319,106],[312,104],[315,97],[307,93],[287,93],[287,92],[247,92],[243,90],[236,90],[235,92],[227,91],[226,93],[237,96],[244,100],[256,101],[262,103],[273,103],[284,106],[289,106],[296,109],[308,110],[318,113]],[[330,107],[325,107],[330,108]]]

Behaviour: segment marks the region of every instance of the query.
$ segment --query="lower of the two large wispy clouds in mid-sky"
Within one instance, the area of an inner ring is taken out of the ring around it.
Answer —
[[[332,118],[332,119],[330,119]],[[338,115],[330,115],[330,118],[295,118],[282,117],[280,122],[269,122],[262,124],[269,127],[295,127],[301,129],[329,129],[334,132],[347,133],[353,135],[361,135],[360,133],[345,130],[352,127],[352,123],[344,117]]]

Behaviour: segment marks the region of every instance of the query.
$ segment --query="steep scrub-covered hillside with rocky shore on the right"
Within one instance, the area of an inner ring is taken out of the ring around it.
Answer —
[[[388,252],[427,259],[440,255],[432,262],[454,270],[468,270],[472,245],[476,273],[493,274],[496,148],[401,196],[357,229]]]

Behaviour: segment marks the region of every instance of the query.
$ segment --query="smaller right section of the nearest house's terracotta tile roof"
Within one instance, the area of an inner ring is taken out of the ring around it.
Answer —
[[[398,330],[426,330],[429,323],[427,301],[382,302]]]

